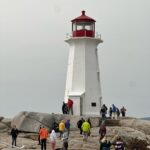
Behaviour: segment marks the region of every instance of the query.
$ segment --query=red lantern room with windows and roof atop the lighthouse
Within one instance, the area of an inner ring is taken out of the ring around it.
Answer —
[[[82,15],[71,20],[73,37],[95,37],[95,20],[86,16],[85,11]]]

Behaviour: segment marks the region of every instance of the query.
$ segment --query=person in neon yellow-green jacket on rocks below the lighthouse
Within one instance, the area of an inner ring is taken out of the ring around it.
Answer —
[[[90,124],[88,123],[88,121],[86,120],[85,122],[82,123],[82,131],[83,131],[83,141],[87,141],[88,139],[88,135],[90,132]]]

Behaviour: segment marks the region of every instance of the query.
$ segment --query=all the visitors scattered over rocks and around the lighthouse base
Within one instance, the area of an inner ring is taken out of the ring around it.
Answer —
[[[62,106],[62,111],[63,114],[72,114],[73,115],[73,101],[71,99],[68,99],[68,103],[66,104],[65,102],[63,102],[63,106]],[[102,116],[102,123],[100,124],[100,129],[99,129],[99,135],[100,135],[100,150],[109,150],[108,148],[114,144],[111,143],[110,141],[107,140],[106,137],[106,125],[105,125],[105,119],[107,116],[107,113],[109,113],[109,117],[112,119],[117,119],[117,117],[120,116],[120,113],[122,114],[122,117],[125,117],[126,115],[126,108],[123,106],[121,109],[118,109],[114,104],[112,104],[112,107],[107,108],[107,106],[105,104],[102,105],[101,110],[100,110],[100,114]],[[63,150],[67,150],[68,149],[68,138],[69,138],[69,134],[70,134],[70,120],[62,120],[59,124],[57,124],[57,129],[60,133],[59,138],[63,141],[62,144],[62,149]],[[80,130],[80,134],[83,136],[83,141],[87,141],[88,136],[90,136],[91,134],[91,121],[90,119],[84,119],[81,118],[78,122],[77,122],[77,127]],[[12,148],[16,147],[16,139],[18,136],[18,129],[16,128],[15,125],[13,125],[12,130],[11,130],[11,135],[12,135]],[[53,130],[50,132],[48,132],[48,130],[44,127],[44,126],[40,126],[39,129],[39,145],[41,145],[41,150],[46,150],[46,142],[47,139],[50,139],[50,146],[51,146],[51,150],[55,150],[56,147],[56,125],[54,125]],[[115,148],[116,150],[124,150],[124,148],[122,148],[123,146],[123,142],[121,140],[120,137],[118,137],[117,139],[118,141],[115,144]],[[104,148],[105,149],[104,149]],[[120,148],[119,148],[120,147]],[[106,149],[107,148],[107,149]]]

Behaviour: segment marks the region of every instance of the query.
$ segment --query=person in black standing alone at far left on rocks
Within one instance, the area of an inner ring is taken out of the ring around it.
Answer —
[[[16,125],[12,126],[10,134],[12,136],[12,148],[13,148],[13,145],[15,146],[17,145],[18,129],[16,128]]]

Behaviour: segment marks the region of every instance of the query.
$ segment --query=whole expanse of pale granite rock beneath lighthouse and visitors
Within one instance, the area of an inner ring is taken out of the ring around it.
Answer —
[[[18,137],[18,144],[25,145],[25,149],[40,149],[37,145],[39,126],[44,125],[48,130],[53,128],[54,122],[59,123],[61,120],[70,119],[71,132],[69,136],[69,150],[99,150],[99,117],[82,116],[84,119],[90,118],[92,129],[91,135],[87,142],[82,140],[77,128],[77,121],[80,116],[62,115],[62,114],[46,114],[36,112],[21,112],[12,120],[12,124],[16,124],[17,128],[22,131]],[[10,128],[10,121],[1,118],[5,127]],[[0,124],[1,125],[1,124]],[[120,118],[119,120],[107,119],[107,137],[114,143],[115,138],[120,136],[127,150],[148,150],[150,149],[150,122],[135,118]],[[1,125],[1,129],[3,130]],[[5,130],[5,131],[7,131]],[[4,131],[4,130],[3,130]],[[2,133],[3,134],[3,133]],[[59,137],[59,133],[57,135]],[[11,143],[8,134],[6,134],[7,142]],[[115,137],[115,138],[114,138]],[[62,141],[58,138],[56,148],[62,147]],[[2,150],[9,149],[9,146],[2,145]],[[4,148],[5,147],[5,148]],[[0,144],[1,149],[1,144]],[[49,144],[48,144],[48,149]],[[114,150],[114,146],[111,147]]]

